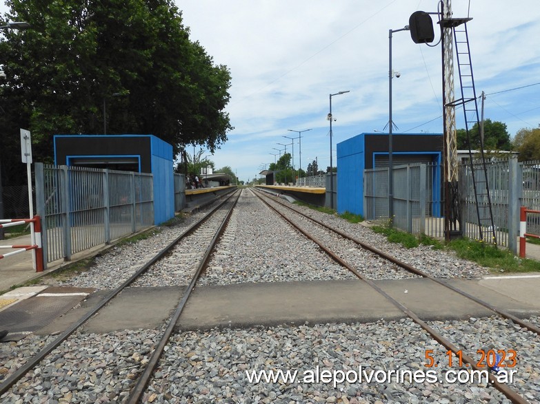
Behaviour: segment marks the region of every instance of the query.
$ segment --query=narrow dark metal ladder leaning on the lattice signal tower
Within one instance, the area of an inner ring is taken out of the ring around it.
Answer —
[[[497,242],[497,233],[493,220],[491,205],[490,187],[488,184],[488,169],[486,158],[483,153],[483,139],[479,136],[480,168],[473,163],[473,156],[470,143],[470,129],[478,125],[480,130],[480,120],[478,114],[477,95],[474,89],[474,77],[472,76],[472,61],[470,58],[469,36],[467,33],[467,23],[453,27],[454,43],[456,45],[457,66],[459,70],[459,85],[461,87],[461,99],[454,100],[453,105],[462,105],[465,114],[465,131],[469,149],[470,172],[472,185],[474,188],[474,202],[478,217],[478,228],[480,240],[488,243]],[[475,165],[477,166],[475,168]],[[464,221],[465,218],[463,217]]]

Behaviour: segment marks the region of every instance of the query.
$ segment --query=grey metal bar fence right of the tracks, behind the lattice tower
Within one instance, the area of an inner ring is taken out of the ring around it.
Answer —
[[[491,160],[486,167],[497,244],[517,253],[519,207],[540,210],[540,162],[517,162],[511,157]],[[472,169],[481,169],[481,164],[474,162]],[[394,167],[395,226],[414,234],[444,237],[440,173],[441,167],[430,164]],[[366,219],[388,220],[388,168],[365,170],[363,179]],[[478,192],[483,193],[481,189]],[[459,201],[463,235],[479,238],[470,164],[459,166]],[[540,234],[540,217],[528,217],[527,226],[532,233]],[[483,228],[483,233],[489,233],[489,228]]]

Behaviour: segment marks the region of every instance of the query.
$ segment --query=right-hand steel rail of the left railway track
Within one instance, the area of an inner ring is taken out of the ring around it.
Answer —
[[[206,253],[203,256],[203,259],[201,259],[201,262],[199,263],[199,266],[197,266],[197,270],[195,271],[190,284],[186,287],[186,289],[183,291],[182,299],[180,300],[176,310],[174,310],[174,314],[172,317],[170,317],[168,326],[163,332],[163,335],[161,336],[161,339],[157,345],[157,347],[154,349],[154,352],[152,352],[152,356],[150,357],[148,364],[146,365],[146,368],[144,369],[143,374],[139,376],[139,379],[137,381],[137,384],[135,387],[131,390],[131,394],[128,398],[127,403],[130,404],[137,404],[141,401],[141,398],[146,390],[146,386],[148,385],[148,382],[152,378],[152,374],[159,363],[159,359],[161,358],[161,354],[163,354],[163,350],[165,350],[165,347],[170,339],[170,336],[172,332],[174,331],[174,327],[176,327],[177,321],[180,318],[180,315],[183,312],[184,307],[186,306],[186,303],[188,302],[188,299],[190,298],[191,292],[193,288],[195,287],[195,284],[197,283],[197,280],[199,280],[199,277],[201,276],[201,273],[208,265],[208,262],[210,261],[210,253],[212,253],[212,250],[214,249],[214,246],[217,244],[217,240],[225,230],[229,220],[230,216],[232,215],[232,211],[234,210],[234,206],[236,206],[238,199],[240,198],[241,191],[238,193],[237,199],[234,200],[234,203],[232,204],[231,208],[229,209],[226,217],[221,222],[221,225],[219,226],[218,230],[216,231],[214,237],[212,238],[212,241],[210,242],[210,245],[208,248],[206,248]]]

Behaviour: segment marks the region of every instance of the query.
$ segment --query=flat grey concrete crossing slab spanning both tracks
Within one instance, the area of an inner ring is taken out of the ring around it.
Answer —
[[[490,284],[490,279],[447,281],[466,293],[518,317],[540,314],[540,303],[536,295],[527,298],[523,293],[521,299],[514,299],[512,295],[519,295],[517,288],[505,295],[493,289],[496,286]],[[484,285],[486,281],[488,287]],[[523,282],[526,282],[525,286],[532,283],[530,279]],[[536,278],[536,282],[540,286],[540,278]],[[375,283],[424,320],[466,319],[494,314],[488,308],[483,308],[471,299],[461,297],[429,279],[379,280]],[[90,319],[83,330],[101,333],[159,328],[177,307],[184,288],[127,288]],[[110,290],[92,293],[86,299],[81,299],[77,307],[65,314],[63,313],[66,310],[62,309],[52,321],[39,329],[34,327],[32,332],[62,332],[86,315],[109,293]],[[181,330],[208,330],[215,327],[248,328],[287,323],[350,323],[381,319],[388,321],[404,317],[406,315],[399,308],[360,280],[271,282],[197,287],[177,326]]]

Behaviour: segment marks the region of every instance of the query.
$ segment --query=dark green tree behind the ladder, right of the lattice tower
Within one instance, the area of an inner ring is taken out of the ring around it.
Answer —
[[[480,149],[480,130],[477,123],[469,131],[470,148]],[[457,130],[457,148],[468,150],[467,134],[465,129]],[[485,150],[511,150],[510,134],[506,129],[506,123],[492,122],[490,119],[483,123],[483,148]]]

